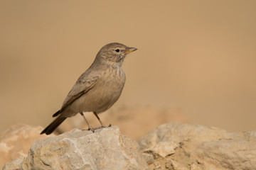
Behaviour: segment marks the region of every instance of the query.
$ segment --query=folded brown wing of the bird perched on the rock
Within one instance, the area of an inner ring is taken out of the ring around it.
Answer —
[[[87,79],[82,78],[83,75],[75,82],[75,85],[68,93],[68,96],[63,101],[63,106],[60,111],[63,111],[70,103],[73,103],[76,99],[80,98],[83,94],[86,94],[90,89],[92,89],[97,81],[100,79],[99,76],[93,76]]]

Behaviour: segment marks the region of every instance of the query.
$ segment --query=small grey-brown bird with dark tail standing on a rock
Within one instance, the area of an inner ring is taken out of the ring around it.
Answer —
[[[42,134],[50,135],[66,118],[80,113],[87,123],[88,130],[95,132],[99,128],[107,128],[98,114],[107,111],[119,98],[125,84],[122,69],[124,58],[137,50],[118,42],[103,46],[90,67],[80,75],[69,91],[59,111],[53,114],[55,120],[48,125]],[[84,112],[92,112],[100,122],[100,127],[92,128],[85,118]]]

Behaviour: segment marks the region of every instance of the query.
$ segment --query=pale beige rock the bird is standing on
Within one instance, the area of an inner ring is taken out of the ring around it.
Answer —
[[[121,135],[115,126],[95,133],[72,130],[36,140],[28,157],[19,157],[4,169],[148,169],[148,166],[137,142]]]

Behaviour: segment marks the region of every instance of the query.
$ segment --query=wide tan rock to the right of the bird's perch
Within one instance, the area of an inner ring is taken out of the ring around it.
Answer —
[[[151,130],[139,145],[149,169],[256,169],[256,131],[170,123]]]

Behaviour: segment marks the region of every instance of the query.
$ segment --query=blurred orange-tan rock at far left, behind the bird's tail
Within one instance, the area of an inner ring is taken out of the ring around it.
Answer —
[[[40,135],[40,126],[18,124],[4,131],[0,135],[0,166],[20,156],[28,155],[28,149],[34,140],[45,138]]]

